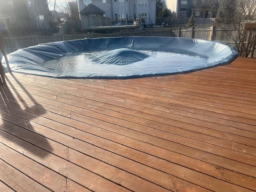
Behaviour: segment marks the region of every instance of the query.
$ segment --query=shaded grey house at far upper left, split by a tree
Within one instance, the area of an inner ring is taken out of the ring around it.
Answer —
[[[24,10],[34,28],[49,29],[50,17],[47,0],[24,0],[24,2]],[[17,13],[19,7],[15,7],[19,5],[19,0],[1,0],[0,30],[8,29],[10,23],[20,20]]]

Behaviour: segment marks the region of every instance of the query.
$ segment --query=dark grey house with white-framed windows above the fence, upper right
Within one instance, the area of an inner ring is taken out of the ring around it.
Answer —
[[[215,18],[216,6],[213,0],[177,0],[176,12],[178,17]]]

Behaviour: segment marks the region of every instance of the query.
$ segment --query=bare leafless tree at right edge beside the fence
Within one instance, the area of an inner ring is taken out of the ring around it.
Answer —
[[[244,24],[256,20],[256,0],[222,0],[218,8],[216,26],[227,31],[230,38],[236,42],[236,48],[240,51]],[[254,33],[252,44],[256,38]]]

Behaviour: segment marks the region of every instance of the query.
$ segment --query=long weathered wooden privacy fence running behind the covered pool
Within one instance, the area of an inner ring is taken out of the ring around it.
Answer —
[[[25,37],[11,37],[3,38],[5,50],[7,53],[14,52],[20,48],[26,48],[47,42],[56,42],[63,40],[75,40],[83,38],[101,38],[101,37],[118,37],[118,36],[163,36],[163,37],[183,37],[183,38],[198,38],[203,40],[216,40],[226,42],[232,46],[236,42],[232,41],[228,33],[236,34],[236,31],[226,31],[216,29],[214,26],[208,28],[149,28],[141,32],[118,32],[112,34],[98,34],[98,33],[84,33],[79,35],[58,34],[54,36],[25,36]]]

